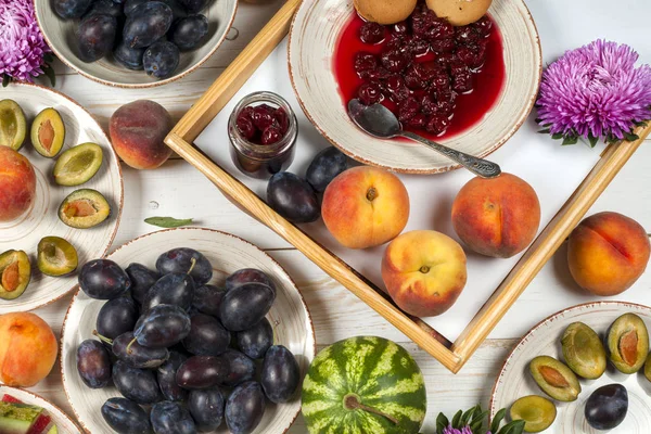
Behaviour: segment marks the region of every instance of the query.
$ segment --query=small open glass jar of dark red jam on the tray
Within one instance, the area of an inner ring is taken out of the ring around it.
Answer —
[[[298,123],[282,97],[254,92],[233,108],[228,136],[235,166],[244,175],[266,179],[292,164]]]

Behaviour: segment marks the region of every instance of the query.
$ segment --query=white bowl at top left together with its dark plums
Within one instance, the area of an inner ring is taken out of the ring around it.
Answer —
[[[146,88],[190,74],[221,44],[238,0],[36,0],[56,56],[108,86]]]

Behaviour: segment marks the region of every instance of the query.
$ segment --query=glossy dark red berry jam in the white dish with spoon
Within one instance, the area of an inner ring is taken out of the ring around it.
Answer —
[[[335,48],[334,71],[344,104],[379,102],[405,129],[448,138],[496,103],[506,77],[502,51],[489,16],[455,27],[419,4],[393,26],[354,13]]]

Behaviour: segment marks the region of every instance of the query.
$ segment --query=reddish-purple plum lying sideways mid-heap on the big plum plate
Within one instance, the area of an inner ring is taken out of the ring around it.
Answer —
[[[190,357],[177,371],[177,384],[189,391],[210,388],[224,383],[230,366],[222,357]]]

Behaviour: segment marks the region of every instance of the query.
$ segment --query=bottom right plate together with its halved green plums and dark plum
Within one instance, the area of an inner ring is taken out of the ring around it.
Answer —
[[[534,327],[495,382],[490,417],[546,434],[651,433],[651,308],[571,307]]]

